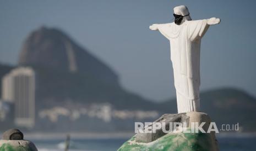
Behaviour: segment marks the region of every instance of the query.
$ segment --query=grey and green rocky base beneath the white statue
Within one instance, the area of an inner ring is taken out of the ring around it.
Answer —
[[[192,122],[199,125],[205,122],[203,129],[207,132],[211,122],[208,114],[201,112],[189,112],[180,114],[164,114],[154,122],[167,123],[179,122],[187,124],[187,131],[191,129]],[[154,125],[154,123],[153,123]],[[152,126],[152,125],[151,125]],[[192,126],[193,127],[193,126]],[[157,130],[155,133],[137,133],[125,142],[121,150],[219,150],[215,133],[176,131],[164,133]]]

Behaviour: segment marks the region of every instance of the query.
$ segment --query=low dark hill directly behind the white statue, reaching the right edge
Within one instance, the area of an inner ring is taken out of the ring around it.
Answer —
[[[204,91],[200,97],[201,111],[208,113],[220,127],[239,123],[243,131],[256,131],[256,98],[234,88]],[[162,103],[160,108],[177,112],[176,99]]]

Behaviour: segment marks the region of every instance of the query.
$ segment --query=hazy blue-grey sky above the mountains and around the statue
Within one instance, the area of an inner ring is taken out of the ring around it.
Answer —
[[[110,65],[129,91],[175,96],[170,45],[149,25],[171,22],[173,7],[192,19],[221,18],[201,42],[201,90],[235,86],[256,96],[256,1],[0,1],[0,61],[17,64],[26,36],[58,27]]]

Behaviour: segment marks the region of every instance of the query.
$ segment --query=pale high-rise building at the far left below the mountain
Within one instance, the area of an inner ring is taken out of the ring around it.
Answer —
[[[2,79],[2,98],[14,103],[14,123],[35,125],[35,72],[30,67],[18,67]]]

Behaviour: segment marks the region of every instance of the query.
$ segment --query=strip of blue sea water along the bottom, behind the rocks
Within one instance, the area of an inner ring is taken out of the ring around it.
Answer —
[[[102,139],[71,139],[70,140],[70,151],[108,151],[117,150],[125,141],[129,138],[102,138]],[[252,137],[218,137],[220,150],[225,151],[255,151],[256,150],[256,136]],[[53,140],[31,140],[35,143],[39,151],[63,151],[64,140],[53,139]]]

